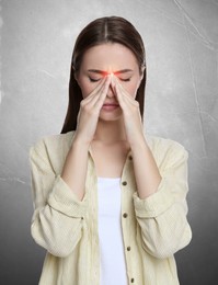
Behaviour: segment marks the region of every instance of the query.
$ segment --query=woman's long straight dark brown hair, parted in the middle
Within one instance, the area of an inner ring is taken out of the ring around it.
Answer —
[[[96,45],[104,43],[118,43],[129,48],[139,65],[140,73],[144,72],[142,80],[137,90],[136,100],[139,102],[141,117],[144,117],[144,101],[146,87],[146,53],[144,42],[137,30],[127,20],[121,16],[100,18],[88,24],[79,34],[71,60],[71,71],[69,81],[69,104],[61,129],[61,134],[77,128],[77,117],[82,101],[82,92],[76,80],[76,75],[80,69],[84,53]],[[142,71],[144,70],[144,71]]]

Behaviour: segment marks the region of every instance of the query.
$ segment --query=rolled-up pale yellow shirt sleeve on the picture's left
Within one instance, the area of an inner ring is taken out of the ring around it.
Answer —
[[[56,256],[69,255],[82,235],[88,201],[79,201],[53,170],[41,141],[30,151],[34,214],[33,239]]]

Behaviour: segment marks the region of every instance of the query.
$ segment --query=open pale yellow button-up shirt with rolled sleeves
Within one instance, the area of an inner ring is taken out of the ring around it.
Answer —
[[[73,132],[47,137],[30,152],[34,200],[31,231],[47,250],[41,285],[100,284],[97,184],[91,152],[82,201],[60,178],[72,139]],[[173,140],[147,137],[147,141],[162,176],[158,191],[146,200],[138,197],[130,151],[121,181],[128,284],[177,285],[173,254],[192,238],[185,200],[187,152]]]

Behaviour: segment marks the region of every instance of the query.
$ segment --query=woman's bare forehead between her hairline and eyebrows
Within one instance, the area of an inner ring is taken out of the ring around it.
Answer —
[[[106,43],[89,48],[83,56],[81,68],[100,70],[137,69],[134,53],[124,45]]]

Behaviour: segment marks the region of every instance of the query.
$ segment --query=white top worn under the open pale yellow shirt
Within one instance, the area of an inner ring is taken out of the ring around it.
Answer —
[[[97,178],[101,285],[127,285],[122,235],[121,178]]]

